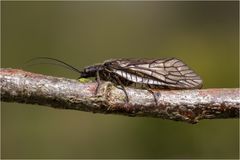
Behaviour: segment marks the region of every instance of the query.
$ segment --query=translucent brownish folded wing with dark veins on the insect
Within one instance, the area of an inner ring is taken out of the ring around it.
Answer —
[[[202,79],[185,63],[176,58],[119,59],[111,62],[113,72],[135,83],[173,89],[202,87]]]

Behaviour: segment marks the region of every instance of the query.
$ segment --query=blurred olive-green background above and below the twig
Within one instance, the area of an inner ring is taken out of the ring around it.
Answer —
[[[238,2],[1,2],[1,66],[48,56],[79,69],[177,57],[204,88],[238,87]],[[41,65],[26,70],[69,78]],[[239,158],[239,122],[190,125],[1,103],[2,158]]]

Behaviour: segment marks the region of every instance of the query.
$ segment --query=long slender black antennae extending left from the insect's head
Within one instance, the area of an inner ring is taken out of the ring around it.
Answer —
[[[73,66],[70,65],[70,64],[67,64],[66,62],[63,62],[63,61],[61,61],[61,60],[58,60],[58,59],[56,59],[56,58],[36,57],[36,58],[32,58],[32,59],[28,60],[26,63],[30,63],[30,62],[32,62],[32,61],[40,60],[40,59],[45,59],[45,60],[47,59],[47,60],[55,61],[55,62],[58,62],[58,63],[62,64],[62,65],[59,64],[59,66],[61,66],[61,67],[64,67],[64,66],[65,66],[65,67],[67,67],[67,69],[70,69],[70,70],[75,71],[75,72],[78,72],[78,73],[82,73],[82,71],[80,71],[79,69],[73,67]],[[39,63],[39,64],[52,64],[52,63]],[[58,64],[52,64],[52,65],[58,65]]]

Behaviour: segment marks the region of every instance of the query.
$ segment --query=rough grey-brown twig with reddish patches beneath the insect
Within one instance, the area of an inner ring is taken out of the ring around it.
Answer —
[[[126,87],[125,94],[110,82],[97,84],[46,76],[18,69],[0,70],[1,100],[39,104],[60,109],[75,109],[128,116],[159,117],[196,123],[200,119],[239,118],[239,88],[202,90],[162,90],[158,104],[147,90]]]

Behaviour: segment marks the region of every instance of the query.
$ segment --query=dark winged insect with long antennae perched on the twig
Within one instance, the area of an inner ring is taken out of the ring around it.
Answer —
[[[177,58],[163,59],[113,59],[102,64],[85,67],[83,71],[54,58],[39,57],[59,62],[61,65],[80,73],[79,78],[95,77],[100,80],[111,81],[120,86],[129,101],[125,86],[147,89],[153,93],[154,89],[198,89],[202,87],[202,79],[184,62]],[[154,95],[156,101],[156,97]]]

